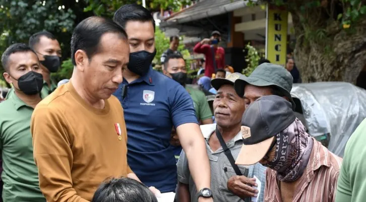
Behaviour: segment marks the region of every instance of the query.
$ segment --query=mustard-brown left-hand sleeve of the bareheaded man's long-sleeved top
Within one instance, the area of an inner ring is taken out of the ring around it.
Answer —
[[[37,106],[31,118],[33,156],[38,168],[39,188],[47,201],[87,202],[73,188],[73,153],[65,118],[46,106]]]

